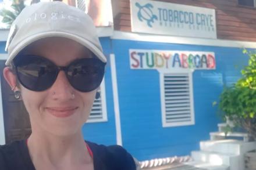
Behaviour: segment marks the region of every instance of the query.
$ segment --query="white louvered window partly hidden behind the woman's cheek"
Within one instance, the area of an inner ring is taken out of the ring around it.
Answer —
[[[101,97],[95,99],[93,103],[93,108],[91,108],[91,113],[87,122],[102,122],[107,121],[106,117],[106,96],[105,96],[105,85],[104,79],[101,83],[99,92]]]

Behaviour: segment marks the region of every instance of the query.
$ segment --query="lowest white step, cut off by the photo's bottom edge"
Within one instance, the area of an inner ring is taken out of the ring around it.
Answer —
[[[227,165],[211,165],[206,162],[200,162],[200,161],[191,161],[186,162],[184,164],[191,165],[196,168],[202,168],[207,170],[229,170],[229,166]]]

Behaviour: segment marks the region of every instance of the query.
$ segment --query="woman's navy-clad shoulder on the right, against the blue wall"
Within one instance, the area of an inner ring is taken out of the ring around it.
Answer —
[[[103,163],[107,169],[136,169],[134,158],[122,146],[112,145],[105,146],[86,141],[90,149],[93,151],[95,164]]]

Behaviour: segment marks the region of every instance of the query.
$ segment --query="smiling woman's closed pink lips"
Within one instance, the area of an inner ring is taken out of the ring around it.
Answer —
[[[74,114],[78,107],[47,107],[47,111],[55,117],[69,117]]]

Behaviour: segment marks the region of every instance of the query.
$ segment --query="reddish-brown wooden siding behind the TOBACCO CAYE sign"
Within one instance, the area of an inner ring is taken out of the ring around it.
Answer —
[[[218,39],[256,41],[256,9],[237,5],[237,0],[162,0],[216,10]],[[115,30],[131,31],[130,0],[112,0]]]

